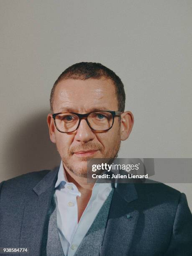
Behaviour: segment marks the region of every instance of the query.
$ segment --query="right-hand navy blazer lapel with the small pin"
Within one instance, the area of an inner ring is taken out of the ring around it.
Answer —
[[[110,206],[101,256],[128,255],[139,212],[131,202],[138,198],[133,183],[118,183]]]

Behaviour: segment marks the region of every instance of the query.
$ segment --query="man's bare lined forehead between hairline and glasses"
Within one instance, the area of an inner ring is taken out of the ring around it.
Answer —
[[[87,113],[93,109],[118,110],[115,85],[111,79],[66,79],[56,85],[54,113]]]

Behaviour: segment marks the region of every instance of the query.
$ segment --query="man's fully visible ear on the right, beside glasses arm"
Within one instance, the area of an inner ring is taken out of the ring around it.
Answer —
[[[121,141],[125,141],[131,133],[134,123],[133,114],[130,111],[125,111],[121,114],[120,120],[120,136]]]

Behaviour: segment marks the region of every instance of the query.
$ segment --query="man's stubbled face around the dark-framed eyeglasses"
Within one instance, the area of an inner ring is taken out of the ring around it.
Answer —
[[[76,80],[59,82],[54,92],[54,113],[74,112],[85,114],[97,110],[118,110],[115,86],[110,79]],[[81,120],[72,133],[56,130],[54,120],[48,115],[51,141],[56,143],[64,167],[79,177],[87,177],[87,160],[113,158],[120,148],[120,122],[115,117],[109,131],[96,132]]]

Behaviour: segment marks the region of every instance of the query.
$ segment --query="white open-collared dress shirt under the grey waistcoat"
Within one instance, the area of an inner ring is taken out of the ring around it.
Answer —
[[[55,202],[57,227],[65,256],[74,256],[78,246],[92,225],[97,213],[112,190],[111,183],[95,183],[90,201],[85,208],[79,223],[77,197],[81,193],[76,185],[68,182],[63,162],[61,161],[58,178],[55,184]]]

